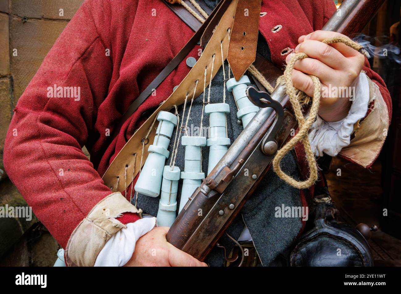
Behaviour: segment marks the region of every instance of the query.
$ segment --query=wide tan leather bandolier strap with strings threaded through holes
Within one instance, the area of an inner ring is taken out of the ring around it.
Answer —
[[[184,103],[184,99],[186,93],[188,93],[188,97],[192,97],[195,84],[198,80],[198,84],[195,90],[195,97],[199,96],[203,92],[203,88],[209,85],[209,81],[213,79],[217,70],[222,65],[221,58],[221,44],[223,44],[223,60],[227,58],[227,50],[228,50],[228,28],[231,28],[233,25],[233,17],[235,13],[235,7],[237,4],[237,0],[225,0],[229,2],[229,5],[225,12],[218,11],[222,14],[219,17],[219,22],[213,35],[211,36],[205,50],[201,57],[198,59],[194,67],[190,70],[190,72],[186,75],[184,80],[178,85],[178,88],[164,101],[158,109],[140,126],[140,128],[135,132],[135,134],[128,140],[125,146],[120,150],[117,156],[114,158],[113,162],[111,162],[109,168],[106,170],[103,175],[104,183],[113,188],[113,192],[122,192],[125,190],[125,187],[129,186],[132,182],[132,179],[138,174],[141,167],[141,155],[143,152],[142,165],[145,163],[146,158],[148,157],[148,146],[150,144],[145,144],[144,150],[142,150],[142,138],[146,137],[150,126],[157,114],[160,110],[169,111],[174,108],[174,105],[178,106]],[[220,6],[220,9],[224,8],[224,3]],[[206,76],[206,84],[204,85],[204,72],[205,68],[211,69],[213,62],[213,54],[216,54],[216,58],[214,60],[214,70],[213,75],[211,77],[211,71],[207,71]],[[156,129],[152,128],[149,136],[148,142],[153,142],[154,135],[156,133]],[[117,177],[120,179],[124,179],[127,175],[126,181],[120,180],[117,181]]]

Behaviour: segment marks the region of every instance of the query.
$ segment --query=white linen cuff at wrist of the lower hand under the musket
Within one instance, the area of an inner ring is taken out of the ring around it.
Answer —
[[[156,218],[141,218],[126,224],[106,242],[95,266],[124,266],[132,257],[136,241],[156,226]]]

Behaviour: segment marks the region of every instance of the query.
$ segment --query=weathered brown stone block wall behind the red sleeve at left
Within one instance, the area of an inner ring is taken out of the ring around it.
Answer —
[[[83,0],[0,0],[0,206],[26,206],[3,167],[4,139],[18,98]],[[59,248],[46,228],[0,219],[0,266],[51,266]]]

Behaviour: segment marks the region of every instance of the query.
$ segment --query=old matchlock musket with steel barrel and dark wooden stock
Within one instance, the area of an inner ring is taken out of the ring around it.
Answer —
[[[384,1],[345,0],[322,30],[352,36],[364,28]],[[285,85],[277,86],[271,96],[251,87],[247,92],[262,108],[190,196],[166,236],[176,248],[201,261],[267,173],[275,152],[289,140],[291,129],[297,127]],[[245,169],[249,176],[244,176]]]

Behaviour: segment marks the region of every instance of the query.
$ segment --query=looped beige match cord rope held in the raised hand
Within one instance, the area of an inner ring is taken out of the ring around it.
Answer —
[[[351,48],[355,49],[356,51],[364,54],[367,56],[367,52],[363,50],[363,47],[346,38],[346,37],[334,37],[334,38],[329,38],[324,41],[322,41],[325,44],[333,44],[333,43],[344,43],[347,46],[350,46]],[[290,98],[290,102],[292,105],[292,108],[294,110],[295,117],[298,122],[298,128],[299,131],[298,133],[291,138],[290,141],[287,142],[279,151],[277,151],[277,154],[275,155],[273,159],[273,169],[277,176],[284,180],[286,183],[289,185],[298,188],[298,189],[306,189],[312,186],[317,178],[318,178],[318,168],[315,160],[315,156],[313,154],[312,148],[310,147],[309,143],[309,138],[308,138],[308,132],[310,126],[312,126],[312,123],[316,119],[316,115],[319,110],[319,103],[320,103],[320,80],[316,76],[310,75],[313,81],[313,98],[312,98],[312,105],[310,107],[310,112],[309,116],[306,118],[304,114],[302,113],[302,105],[308,104],[310,101],[310,97],[307,96],[304,92],[298,90],[297,88],[294,87],[294,84],[292,83],[292,70],[294,69],[294,64],[298,60],[302,60],[304,58],[307,58],[308,55],[305,53],[297,53],[292,56],[290,59],[290,62],[288,62],[288,65],[286,67],[286,70],[284,71],[284,80],[287,86],[287,94]],[[298,181],[285,172],[280,167],[280,162],[283,159],[283,157],[290,151],[294,146],[302,141],[302,144],[304,146],[305,154],[306,154],[306,160],[308,162],[308,167],[309,167],[309,177],[305,181]]]

